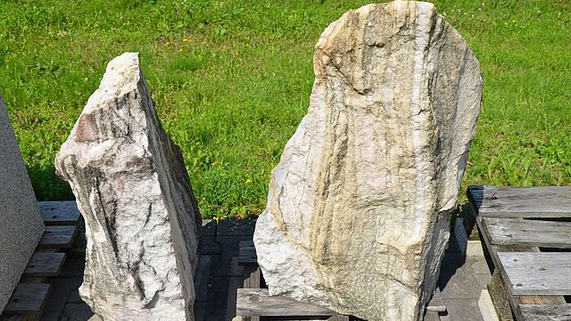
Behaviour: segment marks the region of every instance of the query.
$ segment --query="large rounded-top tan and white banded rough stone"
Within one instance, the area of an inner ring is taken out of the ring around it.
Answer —
[[[393,2],[343,14],[313,63],[254,234],[269,292],[420,320],[476,130],[476,57],[433,4]]]

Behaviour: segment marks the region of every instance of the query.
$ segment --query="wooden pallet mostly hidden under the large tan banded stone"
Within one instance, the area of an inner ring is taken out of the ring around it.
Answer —
[[[244,288],[236,294],[236,315],[246,320],[303,320],[324,319],[336,321],[360,320],[344,316],[315,304],[305,303],[283,296],[270,296],[261,276],[258,258],[252,241],[240,242],[238,263],[244,267]],[[433,300],[426,308],[426,321],[440,320],[439,313],[446,312],[440,290],[436,289]]]

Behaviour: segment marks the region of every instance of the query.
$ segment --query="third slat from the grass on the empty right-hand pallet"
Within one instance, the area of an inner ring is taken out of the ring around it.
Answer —
[[[571,295],[571,253],[500,252],[513,295]]]

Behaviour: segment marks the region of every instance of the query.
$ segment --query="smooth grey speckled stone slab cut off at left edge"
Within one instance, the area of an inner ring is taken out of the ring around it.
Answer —
[[[0,97],[0,314],[44,234],[44,222]]]

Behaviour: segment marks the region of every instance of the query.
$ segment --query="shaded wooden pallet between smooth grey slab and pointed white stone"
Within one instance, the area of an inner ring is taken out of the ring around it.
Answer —
[[[21,276],[0,320],[39,320],[50,292],[50,277],[58,276],[66,249],[77,238],[79,210],[71,202],[38,202],[46,231]]]

